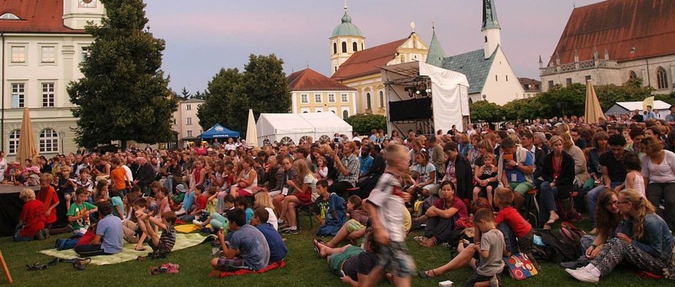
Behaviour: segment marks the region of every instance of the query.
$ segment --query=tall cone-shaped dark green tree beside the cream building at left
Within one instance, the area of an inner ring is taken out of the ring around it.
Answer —
[[[127,140],[155,144],[171,139],[178,99],[161,71],[164,40],[144,30],[142,0],[102,0],[107,18],[86,26],[94,37],[80,65],[82,79],[68,87],[78,118],[75,141],[85,148]]]

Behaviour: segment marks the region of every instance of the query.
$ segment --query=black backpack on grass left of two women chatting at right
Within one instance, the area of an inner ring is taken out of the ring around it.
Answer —
[[[580,243],[574,243],[560,231],[537,230],[535,234],[541,236],[545,247],[536,247],[533,251],[536,259],[560,263],[575,261],[581,256]]]

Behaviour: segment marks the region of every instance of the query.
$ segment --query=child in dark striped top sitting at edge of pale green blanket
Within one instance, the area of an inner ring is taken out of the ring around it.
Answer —
[[[143,230],[143,233],[150,237],[148,245],[153,249],[153,253],[149,255],[151,258],[165,258],[173,249],[175,245],[175,214],[173,212],[165,212],[162,214],[161,220],[150,216],[140,210],[136,211],[136,218],[138,219],[138,227]],[[154,224],[162,230],[161,236],[157,235]]]

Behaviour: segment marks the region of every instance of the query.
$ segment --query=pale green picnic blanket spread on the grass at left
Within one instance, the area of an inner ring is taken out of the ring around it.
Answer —
[[[214,238],[214,235],[209,235],[209,236],[202,236],[201,234],[198,233],[189,233],[189,234],[183,234],[183,233],[176,233],[175,234],[175,245],[173,246],[173,249],[171,251],[176,251],[180,249],[185,249],[188,247],[193,247],[195,245],[198,245],[200,243],[203,243],[207,240],[211,240]],[[113,254],[113,255],[101,255],[101,256],[93,256],[91,257],[91,264],[94,265],[108,265],[108,264],[117,264],[117,263],[122,263],[125,261],[131,261],[131,260],[136,260],[138,256],[145,256],[148,255],[152,251],[150,247],[147,245],[144,245],[145,250],[144,251],[136,251],[134,250],[134,247],[136,244],[132,243],[125,243],[124,244],[124,249],[120,253]],[[39,251],[39,253],[61,258],[61,259],[73,259],[78,257],[77,253],[73,249],[68,249],[68,250],[61,250],[58,251],[56,249],[47,249],[43,251]]]

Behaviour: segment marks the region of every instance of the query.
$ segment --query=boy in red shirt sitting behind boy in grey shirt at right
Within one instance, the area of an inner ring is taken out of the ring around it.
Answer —
[[[499,208],[499,212],[495,216],[495,224],[497,224],[497,229],[504,234],[506,251],[509,253],[524,253],[539,270],[539,264],[532,255],[534,238],[532,226],[522,218],[518,210],[511,206],[513,198],[513,191],[510,189],[497,188],[494,201],[495,206]]]

